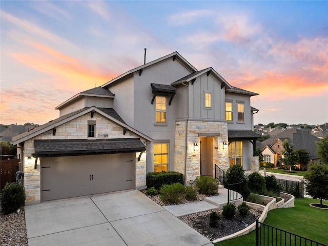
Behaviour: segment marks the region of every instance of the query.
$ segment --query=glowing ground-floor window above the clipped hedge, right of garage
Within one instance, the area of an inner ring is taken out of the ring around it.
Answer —
[[[169,144],[154,144],[154,172],[167,172],[169,166]]]

